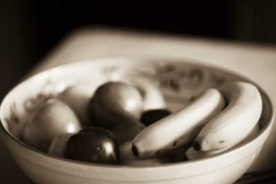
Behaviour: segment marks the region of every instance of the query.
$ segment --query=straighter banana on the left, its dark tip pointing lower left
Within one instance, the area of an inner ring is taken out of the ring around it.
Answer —
[[[210,88],[184,108],[152,123],[132,141],[132,152],[148,159],[189,143],[226,103],[219,90]]]

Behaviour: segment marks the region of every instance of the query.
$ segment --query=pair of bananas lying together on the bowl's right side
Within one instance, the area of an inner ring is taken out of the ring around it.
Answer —
[[[261,112],[262,98],[253,84],[235,81],[219,90],[210,88],[139,132],[132,152],[152,158],[193,141],[197,151],[226,150],[254,132]]]

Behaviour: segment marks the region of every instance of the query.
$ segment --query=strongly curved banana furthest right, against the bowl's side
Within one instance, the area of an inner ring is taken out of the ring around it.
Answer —
[[[199,132],[193,143],[195,150],[212,151],[236,145],[259,121],[262,97],[255,85],[235,81],[224,85],[220,92],[228,105]]]

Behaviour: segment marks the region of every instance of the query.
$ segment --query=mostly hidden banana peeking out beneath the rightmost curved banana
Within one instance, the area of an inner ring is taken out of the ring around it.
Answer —
[[[250,140],[257,132],[259,132],[259,124],[258,123],[257,123],[257,125],[255,125],[253,130],[251,130],[250,134],[248,134],[248,136],[246,136],[246,138],[243,139],[240,143],[245,143],[246,141]],[[225,147],[225,148],[220,149],[220,150],[207,151],[207,152],[197,151],[193,148],[193,146],[191,146],[186,151],[184,159],[195,160],[195,159],[202,159],[202,158],[205,158],[207,156],[214,156],[214,155],[219,154],[221,152],[226,152],[227,150],[230,150],[231,148],[233,148],[233,146]]]

